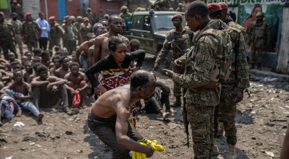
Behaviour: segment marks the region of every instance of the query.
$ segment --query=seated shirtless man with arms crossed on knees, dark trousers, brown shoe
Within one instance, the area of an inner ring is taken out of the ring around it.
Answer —
[[[33,102],[37,108],[52,107],[61,98],[64,112],[69,112],[67,91],[64,86],[65,79],[49,76],[47,67],[39,65],[36,71],[39,77],[32,79]]]

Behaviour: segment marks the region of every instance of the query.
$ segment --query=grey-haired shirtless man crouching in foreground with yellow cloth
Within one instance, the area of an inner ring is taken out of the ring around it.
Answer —
[[[93,104],[88,115],[88,127],[112,149],[113,159],[127,158],[129,151],[153,156],[154,150],[150,145],[136,142],[143,137],[127,119],[134,103],[153,97],[155,84],[153,75],[138,70],[131,75],[130,84],[105,92]]]

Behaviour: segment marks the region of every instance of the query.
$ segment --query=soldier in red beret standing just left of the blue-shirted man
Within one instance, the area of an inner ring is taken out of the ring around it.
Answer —
[[[31,12],[25,14],[26,21],[23,21],[22,34],[24,36],[24,43],[27,44],[28,50],[32,51],[33,49],[38,48],[38,39],[41,36],[41,27],[38,23],[32,20]]]

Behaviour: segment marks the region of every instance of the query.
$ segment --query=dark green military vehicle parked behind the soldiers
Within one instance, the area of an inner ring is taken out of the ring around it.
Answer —
[[[166,35],[175,28],[171,19],[177,13],[185,17],[184,12],[154,11],[152,9],[149,12],[134,12],[124,36],[129,40],[139,40],[140,49],[147,51],[148,55],[156,57],[163,47]],[[183,18],[183,26],[186,26],[185,18]],[[159,70],[171,70],[171,60],[172,51],[160,63]]]

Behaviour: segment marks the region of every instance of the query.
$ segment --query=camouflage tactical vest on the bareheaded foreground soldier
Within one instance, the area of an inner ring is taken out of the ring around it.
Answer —
[[[229,79],[229,75],[231,73],[231,52],[233,51],[230,35],[226,31],[225,28],[222,30],[218,29],[207,29],[203,33],[201,33],[196,39],[198,41],[201,37],[205,35],[214,36],[219,42],[219,48],[215,57],[215,64],[211,75],[211,80],[205,86],[201,88],[218,88],[218,86],[222,82],[226,82]],[[194,51],[194,46],[191,48],[189,52],[189,56],[192,56],[192,51]],[[192,57],[191,57],[192,58]],[[192,59],[194,60],[194,59]],[[194,72],[194,68],[191,68],[191,65],[186,66],[187,74],[192,74]]]

